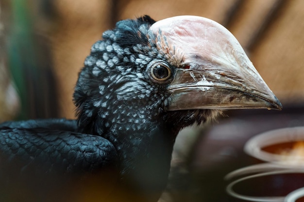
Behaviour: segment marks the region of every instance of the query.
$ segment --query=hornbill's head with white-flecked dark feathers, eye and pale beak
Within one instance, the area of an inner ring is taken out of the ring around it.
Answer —
[[[135,131],[149,127],[147,119],[178,131],[220,109],[282,108],[236,38],[210,19],[143,16],[119,21],[102,37],[74,93],[85,132],[118,124]]]

